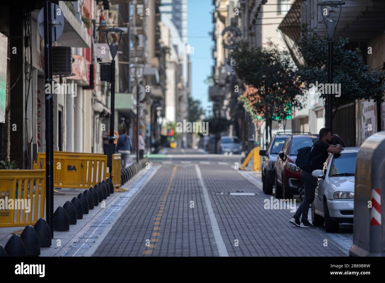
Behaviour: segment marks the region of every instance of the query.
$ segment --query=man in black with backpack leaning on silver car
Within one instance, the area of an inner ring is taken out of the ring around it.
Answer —
[[[315,226],[308,221],[309,206],[314,201],[315,188],[318,183],[318,179],[313,177],[311,172],[317,169],[323,169],[323,164],[328,158],[328,152],[338,154],[343,150],[343,147],[340,144],[337,144],[336,146],[331,145],[333,134],[331,133],[330,128],[322,128],[320,130],[319,138],[319,141],[316,141],[313,144],[312,149],[310,149],[310,156],[307,156],[310,158],[304,162],[306,165],[303,168],[301,167],[301,180],[305,188],[305,198],[294,216],[290,219],[290,223],[298,227],[315,228]],[[305,147],[302,149],[305,149]],[[299,158],[302,149],[298,150],[297,159]],[[301,214],[302,219],[300,222]]]

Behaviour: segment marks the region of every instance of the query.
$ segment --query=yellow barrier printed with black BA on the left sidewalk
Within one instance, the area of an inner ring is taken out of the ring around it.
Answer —
[[[45,169],[45,152],[37,154],[33,169]],[[54,187],[89,189],[108,175],[107,155],[54,151]]]

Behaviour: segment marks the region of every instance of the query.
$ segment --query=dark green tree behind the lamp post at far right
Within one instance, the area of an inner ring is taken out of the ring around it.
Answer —
[[[300,81],[305,85],[327,82],[328,40],[328,36],[320,35],[307,24],[301,26],[301,40],[295,47],[306,63],[298,70]],[[364,64],[360,50],[349,50],[348,43],[349,39],[343,37],[334,40],[333,83],[341,84],[341,97],[334,99],[336,109],[356,99],[383,101],[385,73],[371,71]],[[326,94],[320,96],[325,98]]]

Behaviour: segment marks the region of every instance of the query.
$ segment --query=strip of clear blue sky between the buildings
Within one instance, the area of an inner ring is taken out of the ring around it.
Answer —
[[[211,0],[189,0],[187,3],[187,42],[194,47],[191,60],[191,96],[201,100],[203,108],[211,109],[208,101],[209,85],[203,81],[211,75],[214,64],[211,48],[214,42],[209,35],[213,30],[211,12],[214,9]]]

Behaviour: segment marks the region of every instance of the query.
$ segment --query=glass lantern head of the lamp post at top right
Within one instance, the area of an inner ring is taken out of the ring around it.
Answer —
[[[326,26],[326,32],[329,38],[333,39],[338,21],[340,20],[342,5],[345,5],[345,2],[342,0],[321,0],[317,5],[321,6],[321,14]],[[339,8],[338,17],[333,18],[331,16],[331,12],[336,12],[333,8]]]

